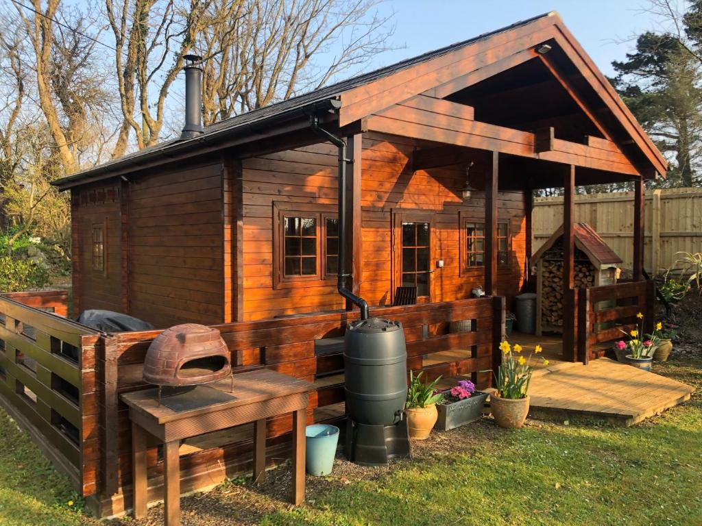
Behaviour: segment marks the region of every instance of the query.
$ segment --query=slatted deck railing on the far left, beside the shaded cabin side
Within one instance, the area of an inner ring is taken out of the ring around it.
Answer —
[[[89,495],[96,490],[100,463],[95,390],[100,335],[58,316],[66,312],[65,300],[65,292],[0,296],[0,402],[76,490]]]

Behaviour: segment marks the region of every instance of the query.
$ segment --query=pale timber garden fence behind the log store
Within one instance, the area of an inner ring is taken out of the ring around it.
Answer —
[[[633,264],[634,193],[578,195],[575,220],[586,222],[623,259]],[[534,252],[563,222],[562,197],[534,198]],[[702,189],[649,190],[644,199],[644,267],[673,267],[675,252],[702,252]]]

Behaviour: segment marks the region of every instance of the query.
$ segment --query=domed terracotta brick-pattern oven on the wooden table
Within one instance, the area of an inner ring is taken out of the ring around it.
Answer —
[[[231,374],[230,352],[220,332],[197,323],[161,332],[144,360],[144,381],[158,386],[206,384]]]

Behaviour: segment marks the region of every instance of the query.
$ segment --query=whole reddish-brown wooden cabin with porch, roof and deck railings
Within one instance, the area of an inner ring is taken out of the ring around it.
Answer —
[[[188,128],[55,184],[71,192],[74,314],[120,311],[159,329],[216,325],[235,372],[269,367],[314,382],[307,417],[332,422],[343,417],[343,360],[338,349],[318,353],[333,347],[319,340],[342,336],[359,317],[339,285],[371,316],[402,322],[412,370],[491,382],[505,310],[531,286],[536,189],[564,188],[563,358],[587,362],[592,344],[620,335],[598,332],[598,323],[623,327],[639,310],[652,322],[642,198],[644,182],[665,170],[607,79],[548,13],[201,132]],[[635,183],[633,281],[583,292],[574,288],[575,188],[609,182]],[[472,298],[478,285],[487,297]],[[628,303],[598,308],[612,299]],[[39,442],[68,466],[95,513],[121,513],[132,487],[119,393],[144,388],[145,352],[159,330],[98,334],[11,299],[0,299],[0,310],[8,327],[45,336],[7,330],[6,349],[34,349],[51,372],[36,379],[13,351],[0,353],[1,393],[39,426]],[[61,342],[79,349],[76,363],[58,364]],[[54,377],[78,400],[57,394]],[[41,403],[27,405],[25,389]],[[269,460],[284,455],[290,429],[291,419],[268,420]],[[183,492],[249,465],[247,433],[183,445]],[[158,498],[155,447],[147,461],[149,496]]]

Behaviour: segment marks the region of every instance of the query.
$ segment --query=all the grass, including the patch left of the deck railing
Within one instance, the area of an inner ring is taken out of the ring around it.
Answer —
[[[702,389],[702,360],[656,367]],[[0,450],[0,525],[99,523],[76,511],[77,504],[67,504],[77,502],[67,479],[53,471],[4,412],[0,439],[5,445]],[[628,429],[529,421],[524,429],[505,431],[477,422],[434,433],[416,447],[412,461],[399,461],[390,470],[344,473],[339,463],[341,473],[310,480],[305,506],[287,508],[273,500],[267,508],[272,513],[260,524],[702,525],[701,444],[699,393]],[[206,498],[223,505],[229,501],[233,509],[246,504],[217,490]],[[184,502],[187,524],[241,524],[215,506],[210,513],[188,511],[188,506]]]

